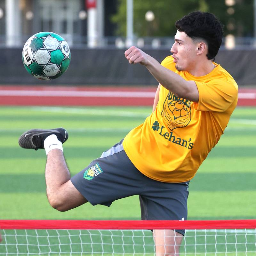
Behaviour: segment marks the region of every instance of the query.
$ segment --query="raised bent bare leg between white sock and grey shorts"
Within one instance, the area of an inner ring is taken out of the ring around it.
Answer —
[[[70,181],[70,172],[60,149],[48,152],[45,181],[48,201],[58,211],[68,211],[88,202]]]

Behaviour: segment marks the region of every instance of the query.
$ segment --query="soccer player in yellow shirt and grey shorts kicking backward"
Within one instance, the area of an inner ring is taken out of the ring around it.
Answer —
[[[160,64],[132,46],[131,64],[140,63],[159,82],[153,112],[83,171],[70,177],[62,143],[63,128],[30,130],[24,148],[44,148],[47,197],[67,211],[86,202],[110,206],[139,195],[142,220],[186,220],[188,184],[218,143],[236,107],[238,88],[214,62],[223,28],[211,13],[192,12],[175,23],[172,55]],[[153,230],[156,255],[179,255],[184,230]]]

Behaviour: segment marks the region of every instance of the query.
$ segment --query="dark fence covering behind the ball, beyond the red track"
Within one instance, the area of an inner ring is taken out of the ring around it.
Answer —
[[[120,49],[71,49],[71,63],[61,77],[41,81],[28,74],[21,61],[22,49],[1,48],[0,84],[38,85],[156,85],[147,68],[130,65]],[[161,62],[168,50],[145,50]],[[238,85],[256,85],[256,50],[220,50],[215,62]]]

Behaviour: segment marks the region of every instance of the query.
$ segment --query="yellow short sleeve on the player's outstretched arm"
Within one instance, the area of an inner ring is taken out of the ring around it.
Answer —
[[[195,83],[199,92],[198,103],[194,103],[196,110],[223,112],[237,97],[237,87],[229,81],[215,79],[208,83]]]

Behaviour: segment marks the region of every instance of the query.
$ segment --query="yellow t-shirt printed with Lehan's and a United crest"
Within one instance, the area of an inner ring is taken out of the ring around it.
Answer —
[[[177,98],[160,87],[156,110],[129,132],[124,151],[136,168],[153,180],[191,180],[218,143],[236,107],[238,87],[220,65],[205,76],[177,71],[172,56],[161,63],[187,81],[195,81],[198,103]]]

